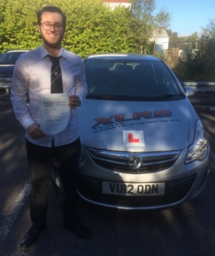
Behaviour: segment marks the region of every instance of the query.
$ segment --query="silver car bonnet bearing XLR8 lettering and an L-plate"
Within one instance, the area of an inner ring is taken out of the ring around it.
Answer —
[[[123,102],[86,99],[78,108],[83,146],[113,151],[173,151],[192,143],[197,114],[187,99]]]

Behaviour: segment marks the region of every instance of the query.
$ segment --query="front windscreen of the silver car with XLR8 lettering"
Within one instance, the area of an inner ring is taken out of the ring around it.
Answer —
[[[162,61],[86,59],[85,67],[88,97],[150,98],[181,93]]]

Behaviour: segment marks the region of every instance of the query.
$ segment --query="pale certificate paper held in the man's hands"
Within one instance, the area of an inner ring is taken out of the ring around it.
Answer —
[[[67,94],[39,94],[40,129],[46,135],[62,132],[70,116]]]

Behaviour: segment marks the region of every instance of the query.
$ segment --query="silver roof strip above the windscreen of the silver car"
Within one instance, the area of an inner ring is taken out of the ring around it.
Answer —
[[[155,56],[135,53],[92,53],[86,56],[85,59],[137,59],[139,61],[162,61]]]

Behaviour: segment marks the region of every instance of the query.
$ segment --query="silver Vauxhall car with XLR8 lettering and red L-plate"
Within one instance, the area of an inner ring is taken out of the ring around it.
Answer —
[[[187,98],[194,91],[183,89],[154,56],[94,54],[84,64],[80,197],[99,206],[151,210],[197,196],[210,170],[210,146]]]

